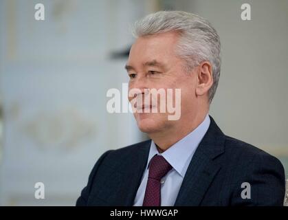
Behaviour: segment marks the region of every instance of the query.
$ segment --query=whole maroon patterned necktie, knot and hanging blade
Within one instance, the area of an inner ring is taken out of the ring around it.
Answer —
[[[161,206],[161,179],[172,166],[161,155],[155,155],[149,165],[149,175],[143,206]]]

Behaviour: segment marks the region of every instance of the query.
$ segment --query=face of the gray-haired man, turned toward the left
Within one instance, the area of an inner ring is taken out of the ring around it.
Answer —
[[[138,38],[129,54],[129,61],[126,65],[129,74],[129,91],[131,89],[140,89],[140,94],[135,94],[135,97],[129,97],[131,104],[133,100],[144,98],[144,89],[173,89],[173,99],[168,100],[166,96],[166,112],[160,113],[160,95],[151,97],[151,100],[157,99],[157,113],[151,113],[153,107],[142,99],[142,108],[134,113],[137,125],[140,130],[145,133],[155,133],[164,131],[164,129],[173,129],[179,123],[188,123],[185,118],[187,115],[195,111],[195,85],[196,74],[190,74],[184,71],[185,61],[175,55],[175,46],[179,35],[175,32],[167,32],[156,34],[153,36],[144,36]],[[175,106],[175,89],[181,89],[181,118],[179,120],[168,120],[168,115],[171,113],[167,110],[167,105]],[[163,101],[163,100],[161,100]],[[165,101],[165,100],[164,100]],[[171,103],[173,102],[173,103]],[[141,103],[141,102],[137,102]],[[143,112],[138,112],[142,110]],[[144,111],[148,110],[149,113]]]

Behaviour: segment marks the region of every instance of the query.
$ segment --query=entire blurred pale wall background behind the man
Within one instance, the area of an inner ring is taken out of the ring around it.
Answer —
[[[74,206],[104,151],[147,138],[131,113],[107,113],[106,93],[128,82],[129,27],[158,10],[216,28],[223,61],[210,115],[288,174],[287,0],[0,0],[0,205]]]

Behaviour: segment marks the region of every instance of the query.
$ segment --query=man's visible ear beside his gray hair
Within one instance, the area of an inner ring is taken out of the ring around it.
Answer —
[[[212,65],[208,61],[200,63],[197,67],[197,86],[196,95],[203,96],[208,94],[213,85]]]

